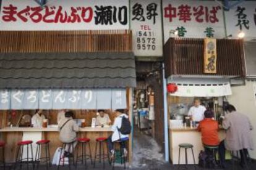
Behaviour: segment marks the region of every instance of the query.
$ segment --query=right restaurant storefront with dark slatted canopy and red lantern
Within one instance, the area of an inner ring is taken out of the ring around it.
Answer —
[[[209,39],[208,39],[209,40]],[[211,39],[210,39],[211,40]],[[245,75],[244,46],[238,39],[213,39],[211,49],[207,49],[205,39],[170,38],[164,45],[164,59],[168,88],[169,157],[173,164],[178,163],[179,144],[194,145],[195,162],[203,150],[197,124],[187,118],[193,100],[198,98],[202,105],[215,113],[215,119],[221,125],[224,116],[223,105],[232,95],[231,79]],[[205,52],[210,55],[205,55]],[[209,63],[211,61],[211,63]],[[209,69],[209,65],[211,68]],[[214,68],[214,69],[213,69]],[[208,71],[208,72],[207,72]],[[209,73],[209,71],[211,73]],[[221,140],[225,132],[219,132]],[[185,163],[181,153],[181,163]],[[188,162],[193,163],[188,154]]]

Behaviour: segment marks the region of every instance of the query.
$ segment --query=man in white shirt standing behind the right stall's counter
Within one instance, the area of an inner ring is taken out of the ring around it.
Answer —
[[[194,106],[189,109],[189,113],[187,115],[192,117],[192,120],[195,122],[202,121],[206,108],[201,105],[201,101],[198,98],[194,99]]]

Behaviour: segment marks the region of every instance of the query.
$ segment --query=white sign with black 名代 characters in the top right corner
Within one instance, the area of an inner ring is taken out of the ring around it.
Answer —
[[[246,1],[224,12],[227,34],[237,38],[239,31],[244,31],[245,39],[256,38],[256,2]]]

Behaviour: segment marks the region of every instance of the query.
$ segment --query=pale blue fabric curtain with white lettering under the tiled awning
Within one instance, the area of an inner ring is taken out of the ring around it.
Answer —
[[[126,89],[1,90],[0,110],[126,108]]]

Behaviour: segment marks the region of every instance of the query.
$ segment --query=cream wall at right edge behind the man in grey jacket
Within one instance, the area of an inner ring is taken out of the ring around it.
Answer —
[[[254,130],[254,150],[250,151],[250,157],[256,159],[256,81],[246,81],[245,86],[232,87],[233,95],[228,97],[228,102],[233,104],[237,111],[249,116]]]

